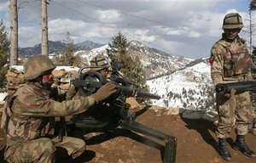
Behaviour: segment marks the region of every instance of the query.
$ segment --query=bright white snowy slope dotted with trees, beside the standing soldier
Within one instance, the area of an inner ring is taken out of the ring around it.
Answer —
[[[150,87],[150,93],[158,94],[161,97],[159,100],[152,100],[153,104],[173,109],[183,108],[184,103],[187,103],[188,108],[196,109],[196,106],[201,106],[198,104],[199,99],[207,98],[201,94],[201,91],[202,87],[211,87],[212,80],[210,77],[210,66],[207,63],[200,63],[184,70],[177,70],[170,76],[150,80],[147,84]],[[184,90],[187,93],[189,90],[195,92],[191,95],[192,99],[183,96]],[[168,94],[171,92],[177,93],[183,98],[170,98]]]

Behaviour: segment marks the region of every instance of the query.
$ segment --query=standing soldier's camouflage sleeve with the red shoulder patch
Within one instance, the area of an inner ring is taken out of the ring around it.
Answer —
[[[211,50],[210,64],[211,76],[214,86],[223,82],[224,59],[222,57],[223,50],[218,46],[213,46]]]

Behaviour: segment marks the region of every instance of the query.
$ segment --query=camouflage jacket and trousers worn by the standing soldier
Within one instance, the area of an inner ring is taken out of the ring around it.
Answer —
[[[227,42],[223,36],[216,42],[211,51],[212,81],[218,83],[253,81],[251,75],[252,60],[246,44],[236,37],[233,42]],[[218,106],[218,138],[229,138],[230,127],[236,120],[236,133],[247,134],[247,125],[253,119],[253,108],[250,95],[236,93],[232,97],[217,94]]]

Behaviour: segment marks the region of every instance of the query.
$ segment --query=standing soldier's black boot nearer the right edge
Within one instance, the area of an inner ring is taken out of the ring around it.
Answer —
[[[245,135],[237,135],[236,141],[233,144],[233,149],[238,149],[242,154],[247,155],[248,157],[255,157],[253,150],[247,147],[247,143],[245,143]]]

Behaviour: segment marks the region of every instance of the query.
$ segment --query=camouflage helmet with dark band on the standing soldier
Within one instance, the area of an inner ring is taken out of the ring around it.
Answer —
[[[241,15],[238,13],[226,14],[223,20],[223,29],[236,29],[242,28]]]

